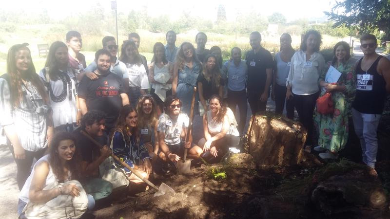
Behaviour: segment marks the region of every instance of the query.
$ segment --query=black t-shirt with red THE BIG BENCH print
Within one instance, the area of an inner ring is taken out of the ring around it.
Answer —
[[[121,78],[111,72],[98,75],[96,80],[84,76],[78,85],[78,96],[86,100],[87,109],[106,113],[107,129],[114,127],[122,108],[121,93],[125,93]]]

